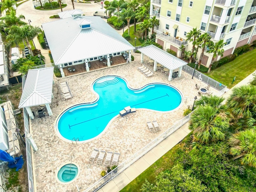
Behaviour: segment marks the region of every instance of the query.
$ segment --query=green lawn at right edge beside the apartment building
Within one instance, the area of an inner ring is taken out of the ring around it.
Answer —
[[[256,49],[238,56],[232,62],[226,63],[206,74],[210,78],[232,88],[256,70]],[[234,76],[236,80],[233,82]]]

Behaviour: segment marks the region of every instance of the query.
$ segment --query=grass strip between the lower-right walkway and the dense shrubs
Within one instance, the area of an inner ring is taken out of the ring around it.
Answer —
[[[130,182],[126,187],[124,187],[120,192],[137,192],[140,191],[142,184],[145,179],[149,182],[154,182],[156,176],[164,170],[171,169],[173,163],[177,156],[179,156],[179,150],[184,146],[185,143],[190,143],[190,134],[188,134],[182,142],[174,146],[161,158],[159,158],[154,164],[142,172],[138,177],[136,177],[132,182]]]

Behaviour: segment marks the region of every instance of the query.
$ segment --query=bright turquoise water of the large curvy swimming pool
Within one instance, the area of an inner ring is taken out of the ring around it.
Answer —
[[[98,136],[126,106],[170,111],[181,102],[180,92],[172,86],[154,83],[131,89],[118,76],[99,78],[92,88],[99,96],[96,102],[72,106],[58,117],[56,128],[64,138],[84,141]]]

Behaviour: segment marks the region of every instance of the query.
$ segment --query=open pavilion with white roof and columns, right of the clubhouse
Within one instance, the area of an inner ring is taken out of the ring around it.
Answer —
[[[154,62],[153,69],[154,71],[157,70],[157,64],[161,64],[165,68],[168,68],[169,76],[168,80],[172,80],[173,71],[178,69],[178,77],[181,76],[182,73],[182,66],[186,65],[187,62],[184,62],[183,60],[177,58],[176,56],[173,56],[172,54],[154,46],[149,45],[146,47],[142,47],[138,49],[141,52],[141,58],[140,62],[144,62],[144,54]]]

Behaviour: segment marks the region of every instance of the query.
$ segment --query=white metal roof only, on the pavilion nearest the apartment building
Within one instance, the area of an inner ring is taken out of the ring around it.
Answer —
[[[186,64],[187,62],[173,56],[172,54],[154,46],[149,45],[146,47],[142,47],[138,49],[140,52],[150,57],[152,60],[162,64],[166,68],[170,70],[174,70],[180,68]]]

